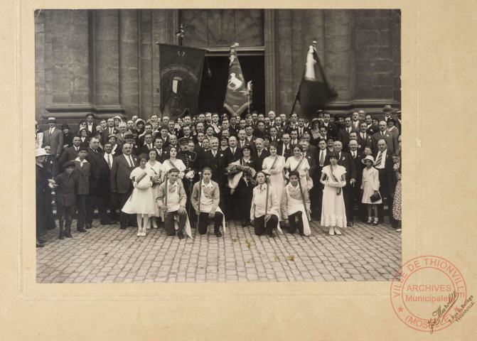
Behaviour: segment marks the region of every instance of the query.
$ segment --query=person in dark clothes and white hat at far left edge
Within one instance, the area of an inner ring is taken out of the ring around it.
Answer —
[[[53,217],[51,207],[51,188],[55,181],[49,179],[48,171],[43,167],[48,153],[43,148],[36,149],[36,247],[45,246],[45,240],[41,239],[45,234]]]

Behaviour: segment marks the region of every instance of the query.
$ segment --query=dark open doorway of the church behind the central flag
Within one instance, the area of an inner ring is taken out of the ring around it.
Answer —
[[[240,67],[246,82],[252,81],[253,94],[250,111],[265,111],[265,61],[263,55],[239,55]],[[210,72],[207,72],[207,59],[204,61],[202,82],[199,92],[199,112],[227,112],[223,107],[227,90],[229,58],[226,56],[208,57]],[[243,113],[245,114],[245,112]]]

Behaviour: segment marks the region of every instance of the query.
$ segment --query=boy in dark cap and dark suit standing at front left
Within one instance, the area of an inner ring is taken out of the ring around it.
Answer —
[[[75,211],[78,188],[78,179],[75,173],[73,173],[75,167],[75,161],[67,161],[63,165],[65,173],[61,173],[55,178],[55,201],[58,214],[60,215],[59,239],[73,237],[71,235],[71,222],[73,222],[73,212]]]

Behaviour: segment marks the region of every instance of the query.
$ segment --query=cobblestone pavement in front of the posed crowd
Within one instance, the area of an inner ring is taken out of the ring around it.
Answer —
[[[37,282],[391,281],[401,265],[401,234],[390,224],[355,222],[342,236],[328,236],[319,222],[310,225],[309,237],[284,229],[269,238],[229,222],[221,238],[210,225],[209,234],[192,229],[193,239],[179,240],[161,227],[136,237],[136,228],[97,220],[80,233],[74,220],[73,239],[58,239],[57,228],[37,249]]]

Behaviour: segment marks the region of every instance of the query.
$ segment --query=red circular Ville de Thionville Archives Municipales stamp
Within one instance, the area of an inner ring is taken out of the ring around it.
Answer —
[[[437,256],[419,256],[403,264],[392,279],[391,304],[414,330],[436,332],[459,318],[466,282],[459,269]]]

